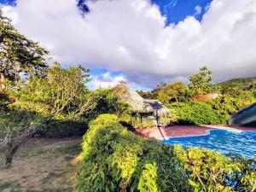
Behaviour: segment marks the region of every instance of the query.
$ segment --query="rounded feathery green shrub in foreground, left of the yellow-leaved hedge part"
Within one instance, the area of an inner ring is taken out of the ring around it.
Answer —
[[[172,155],[166,145],[134,136],[117,116],[102,114],[84,135],[75,191],[189,191]]]

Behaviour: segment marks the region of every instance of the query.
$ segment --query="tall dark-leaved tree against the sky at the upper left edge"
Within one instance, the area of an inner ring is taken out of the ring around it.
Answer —
[[[48,51],[20,34],[0,10],[0,93],[4,80],[18,80],[20,73],[42,76]]]

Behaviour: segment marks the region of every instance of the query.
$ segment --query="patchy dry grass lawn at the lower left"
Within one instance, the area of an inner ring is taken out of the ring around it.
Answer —
[[[2,192],[69,192],[73,189],[80,141],[43,143],[33,140],[21,146],[8,170],[0,169]],[[3,158],[3,155],[1,156]]]

